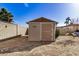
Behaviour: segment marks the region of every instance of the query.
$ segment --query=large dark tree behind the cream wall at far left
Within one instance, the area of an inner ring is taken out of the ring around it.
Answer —
[[[13,22],[13,15],[8,12],[5,8],[1,8],[0,10],[0,20],[5,22]]]

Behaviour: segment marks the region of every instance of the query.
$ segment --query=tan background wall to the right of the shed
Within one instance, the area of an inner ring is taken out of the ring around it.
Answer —
[[[76,30],[79,30],[79,25],[71,25],[71,26],[65,26],[65,27],[59,27],[57,28],[60,32],[60,35],[65,35],[66,33],[72,33]]]

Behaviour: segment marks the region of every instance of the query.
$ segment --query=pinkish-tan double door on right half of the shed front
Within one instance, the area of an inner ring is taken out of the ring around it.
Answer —
[[[53,40],[53,26],[52,24],[42,24],[42,41],[52,41]]]

